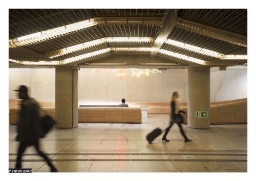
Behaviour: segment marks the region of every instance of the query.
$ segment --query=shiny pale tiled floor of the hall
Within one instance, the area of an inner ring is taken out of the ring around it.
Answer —
[[[182,125],[192,142],[184,143],[174,124],[148,144],[145,137],[156,127],[165,129],[169,115],[147,115],[142,124],[83,123],[73,129],[53,128],[40,140],[59,172],[247,172],[247,124],[211,125],[191,129]],[[15,167],[16,125],[9,126],[9,168]],[[22,167],[50,172],[34,147],[22,157]]]

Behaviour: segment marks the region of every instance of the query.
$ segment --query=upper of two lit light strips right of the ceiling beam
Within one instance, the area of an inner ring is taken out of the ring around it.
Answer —
[[[190,44],[182,43],[182,42],[171,40],[171,39],[166,39],[165,43],[172,44],[174,46],[177,46],[177,47],[189,50],[189,51],[193,51],[196,53],[200,53],[203,55],[216,57],[221,60],[247,60],[247,55],[224,55],[221,53],[217,53],[217,52],[210,51],[207,49],[202,49],[202,48],[199,48],[196,46],[191,46]]]

